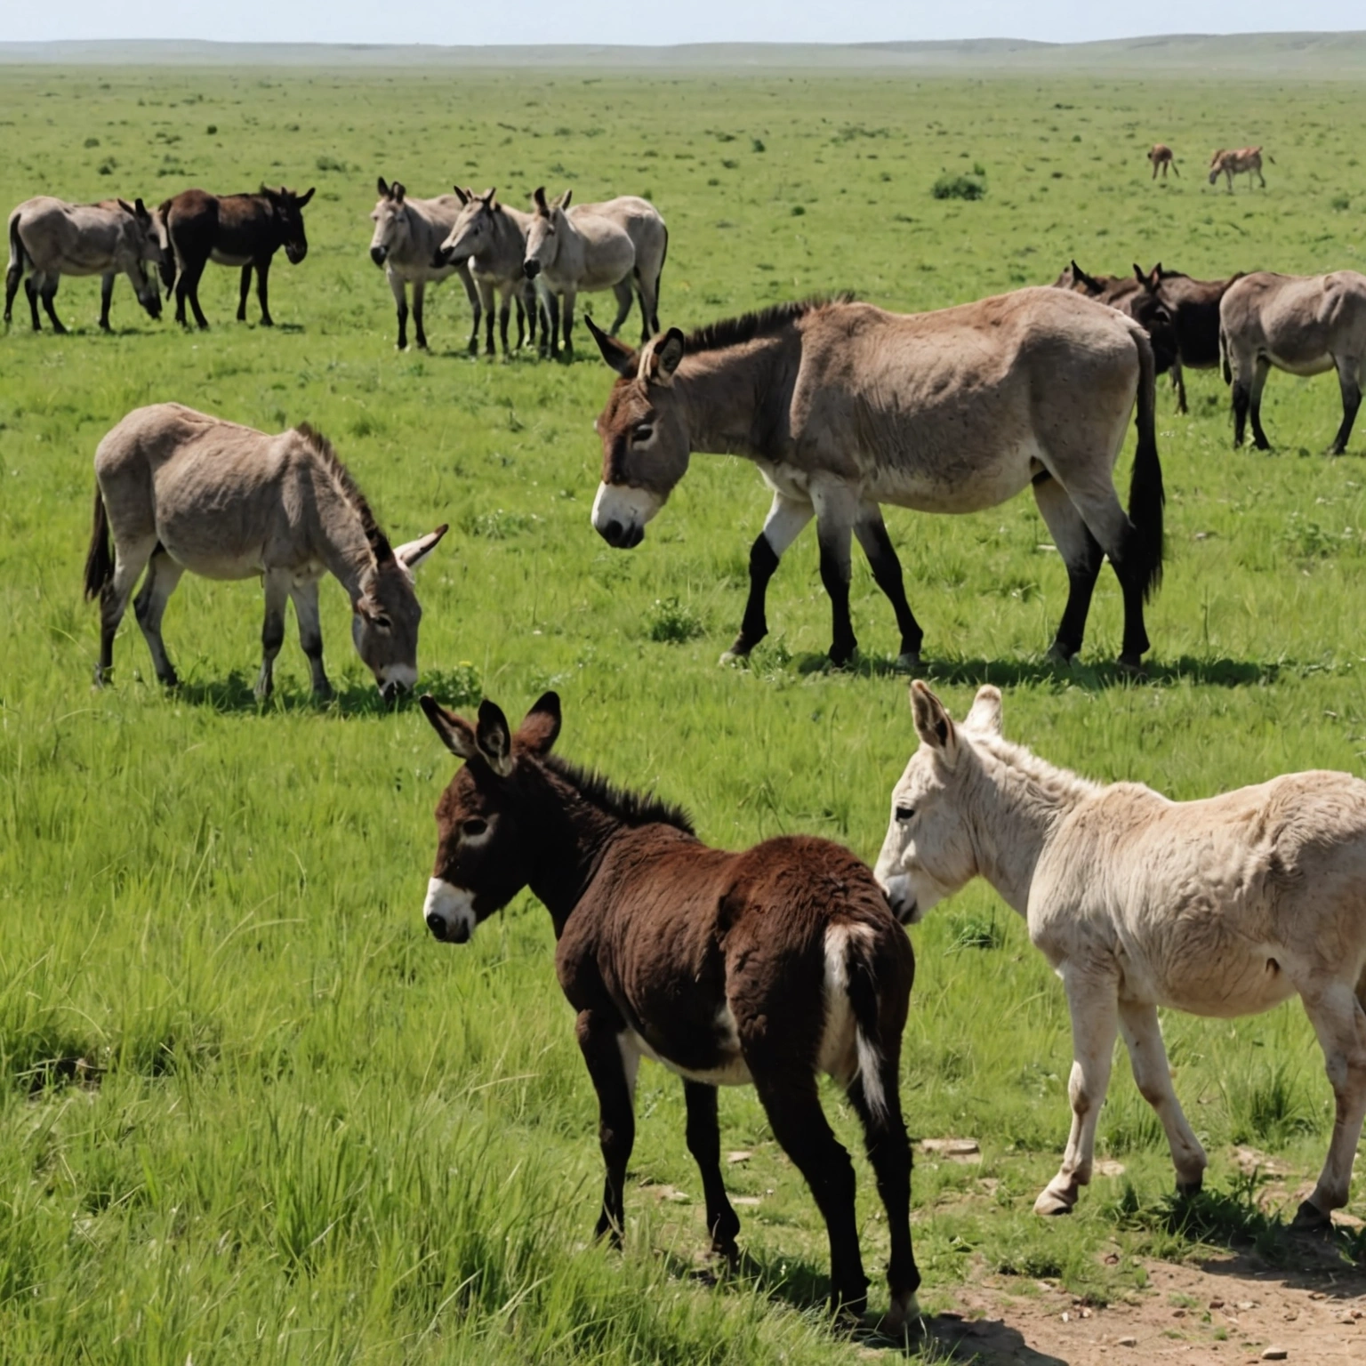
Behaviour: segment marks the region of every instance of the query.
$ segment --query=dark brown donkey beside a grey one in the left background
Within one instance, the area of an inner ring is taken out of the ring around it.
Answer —
[[[247,318],[247,294],[251,290],[251,269],[257,273],[257,298],[261,301],[261,325],[273,326],[266,303],[266,280],[270,258],[284,247],[290,265],[298,265],[309,254],[309,239],[303,235],[303,208],[313,198],[261,186],[257,194],[209,194],[208,190],[182,190],[157,209],[167,231],[167,262],[161,279],[167,290],[175,288],[175,320],[184,322],[184,303],[190,301],[194,321],[201,328],[209,320],[199,307],[199,276],[204,268],[219,265],[242,266],[242,296],[238,302],[238,322]]]

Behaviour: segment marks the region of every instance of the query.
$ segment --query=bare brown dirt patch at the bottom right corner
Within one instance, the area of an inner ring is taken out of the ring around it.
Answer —
[[[958,1314],[926,1328],[949,1359],[981,1366],[1361,1366],[1366,1269],[1313,1239],[1296,1243],[1292,1262],[1269,1268],[1242,1254],[1149,1262],[1147,1288],[1104,1309],[1042,1281],[986,1276],[958,1292]]]

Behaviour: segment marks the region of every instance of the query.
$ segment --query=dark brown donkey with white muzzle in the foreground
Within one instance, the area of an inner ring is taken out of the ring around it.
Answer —
[[[721,1182],[716,1089],[753,1085],[825,1217],[832,1307],[861,1313],[854,1165],[821,1111],[825,1072],[863,1123],[892,1243],[882,1329],[902,1332],[921,1283],[897,1089],[915,959],[869,869],[806,836],[743,854],[708,848],[678,809],[550,755],[553,693],[515,735],[492,702],[477,725],[430,697],[422,710],[467,761],[437,805],[422,914],[438,940],[463,944],[523,887],[549,910],[556,973],[598,1094],[607,1182],[597,1235],[620,1240],[643,1055],[683,1078],[712,1249],[734,1264],[740,1221]]]

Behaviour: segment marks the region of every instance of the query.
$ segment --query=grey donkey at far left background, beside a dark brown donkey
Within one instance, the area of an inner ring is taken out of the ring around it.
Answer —
[[[25,280],[33,331],[41,332],[38,299],[53,332],[66,332],[53,307],[64,275],[100,276],[100,326],[109,331],[109,301],[119,273],[128,277],[138,303],[153,318],[161,317],[156,276],[145,262],[160,265],[161,238],[141,199],[101,199],[98,204],[66,204],[51,195],[25,199],[10,214],[10,269],[4,280],[4,321],[10,322],[14,296]]]

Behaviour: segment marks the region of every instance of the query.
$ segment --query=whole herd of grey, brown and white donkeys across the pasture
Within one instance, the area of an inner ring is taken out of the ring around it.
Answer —
[[[1169,149],[1158,145],[1152,160],[1154,176],[1160,165],[1165,173]],[[61,331],[53,310],[60,276],[100,275],[107,328],[119,272],[156,317],[150,264],[175,294],[178,321],[189,303],[206,326],[197,290],[214,261],[242,270],[239,320],[255,272],[269,324],[270,261],[280,247],[294,264],[305,258],[302,210],[311,194],[189,190],[154,210],[141,199],[30,199],[10,217],[5,321],[23,280],[34,328],[41,302]],[[764,638],[769,581],[814,519],[832,663],[847,664],[856,646],[856,540],[896,617],[897,665],[914,672],[922,628],[882,504],[962,514],[1027,486],[1068,575],[1050,657],[1065,663],[1081,650],[1108,557],[1123,597],[1120,665],[1141,676],[1143,608],[1162,574],[1157,376],[1171,372],[1184,411],[1184,372],[1221,366],[1235,441],[1250,417],[1265,448],[1268,370],[1336,369],[1343,419],[1333,452],[1347,445],[1366,380],[1366,277],[1348,270],[1193,280],[1161,265],[1091,276],[1074,261],[1052,287],[934,313],[893,314],[833,296],[686,335],[660,328],[668,231],[645,199],[575,205],[568,191],[548,199],[537,190],[522,212],[493,190],[456,187],[423,199],[380,179],[372,217],[370,257],[393,292],[400,347],[410,287],[425,347],[425,290],[452,275],[474,310],[470,346],[482,321],[490,352],[494,311],[504,352],[515,309],[518,346],[540,333],[553,354],[571,346],[578,294],[612,291],[612,326],[587,320],[616,376],[594,423],[602,470],[591,523],[609,545],[643,540],[694,451],[754,462],[773,501],[750,550],[749,600],[727,661]],[[632,299],[638,347],[615,336]],[[1131,418],[1138,441],[1126,510],[1113,470]],[[258,695],[272,688],[287,598],[313,690],[328,695],[318,626],[326,574],[347,591],[355,649],[385,699],[414,688],[422,615],[414,571],[447,527],[392,546],[320,433],[299,426],[272,436],[165,403],[119,421],[94,464],[85,589],[100,601],[97,683],[111,676],[115,634],[141,578],[137,622],[158,679],[176,684],[161,619],[191,570],[262,578]],[[463,944],[525,888],[549,911],[556,971],[600,1102],[598,1236],[619,1240],[623,1229],[635,1078],[649,1057],[683,1078],[708,1233],[734,1264],[739,1218],[721,1179],[717,1087],[753,1085],[825,1220],[832,1307],[846,1320],[859,1315],[867,1280],[855,1176],[821,1109],[818,1079],[828,1075],[862,1121],[887,1210],[891,1302],[881,1328],[904,1332],[919,1285],[899,1091],[914,978],[904,926],[974,877],[1026,918],[1071,1009],[1072,1127],[1035,1202],[1040,1213],[1070,1212],[1091,1177],[1116,1035],[1167,1132],[1177,1190],[1190,1195],[1206,1158],[1172,1089],[1157,1008],[1231,1018],[1299,994],[1322,1045],[1336,1123],[1296,1224],[1328,1227],[1347,1203],[1366,1117],[1366,783],[1298,773],[1175,803],[1141,784],[1091,783],[1007,740],[993,687],[979,690],[962,721],[921,682],[910,701],[918,747],[892,790],[870,870],[807,836],[738,854],[709,848],[678,807],[555,754],[561,708],[553,693],[515,729],[493,702],[467,720],[422,697],[441,743],[463,761],[437,806],[422,918],[434,938]]]

